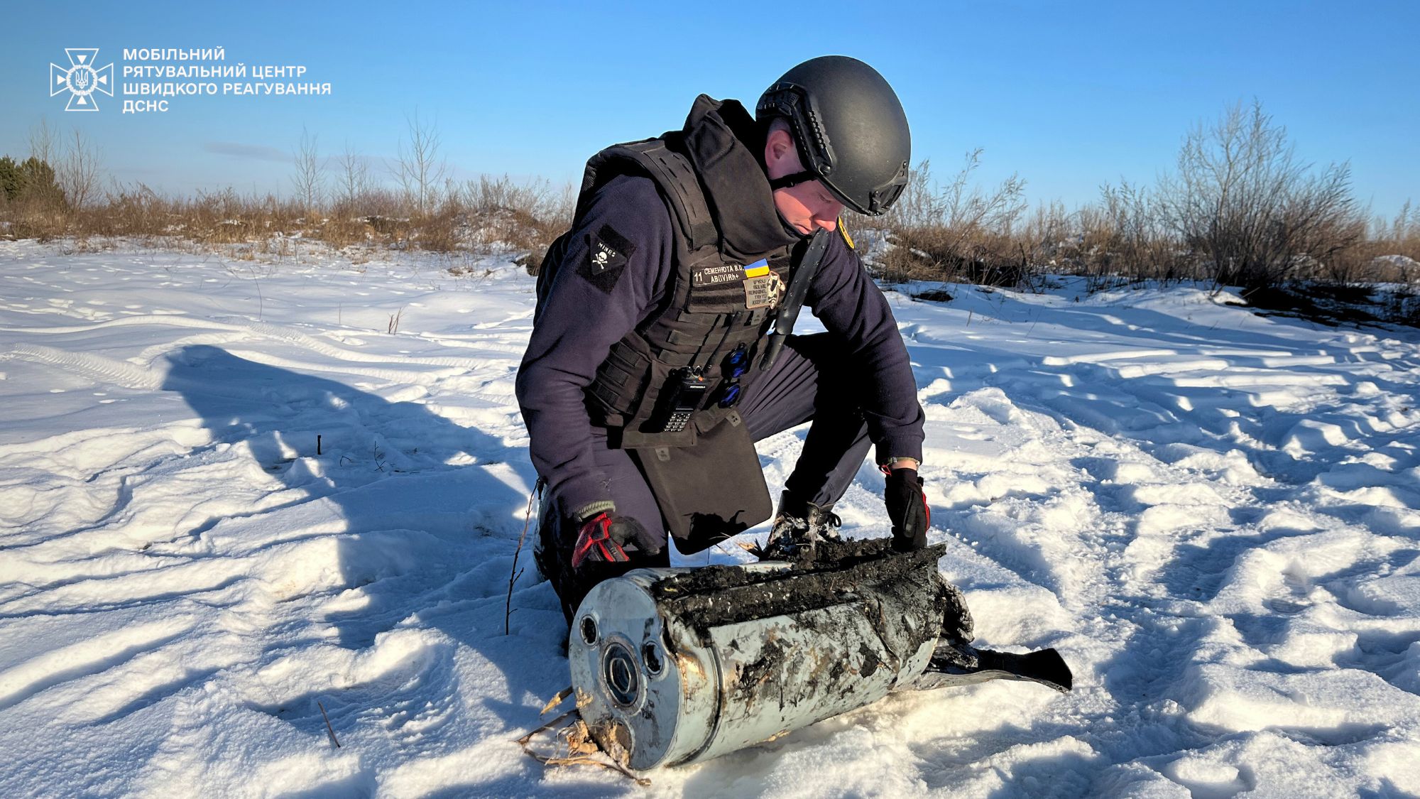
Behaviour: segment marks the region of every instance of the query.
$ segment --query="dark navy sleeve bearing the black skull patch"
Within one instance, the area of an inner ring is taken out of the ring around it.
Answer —
[[[584,390],[612,344],[665,300],[670,210],[649,178],[622,175],[592,198],[541,310],[517,375],[532,465],[561,510],[611,500],[592,461]]]

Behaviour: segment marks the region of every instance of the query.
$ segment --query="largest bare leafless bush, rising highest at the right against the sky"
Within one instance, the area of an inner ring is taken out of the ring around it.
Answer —
[[[1160,178],[1159,200],[1167,225],[1208,260],[1217,284],[1278,284],[1365,232],[1350,166],[1314,172],[1255,101],[1184,136],[1179,172]]]

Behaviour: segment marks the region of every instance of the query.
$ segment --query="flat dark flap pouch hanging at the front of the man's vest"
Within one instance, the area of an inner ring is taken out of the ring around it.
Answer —
[[[743,533],[772,512],[764,469],[744,419],[730,411],[716,422],[699,429],[701,419],[692,419],[699,434],[694,446],[629,449],[683,554]]]

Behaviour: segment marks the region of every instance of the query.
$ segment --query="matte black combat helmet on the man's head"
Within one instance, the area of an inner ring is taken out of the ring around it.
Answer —
[[[804,162],[804,172],[770,181],[775,189],[822,181],[845,206],[878,216],[907,185],[907,115],[888,81],[858,58],[804,61],[764,91],[754,114],[761,125],[788,119]]]

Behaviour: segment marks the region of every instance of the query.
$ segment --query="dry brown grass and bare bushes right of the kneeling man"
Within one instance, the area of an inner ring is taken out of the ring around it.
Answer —
[[[1247,141],[1254,138],[1255,146]],[[1245,159],[1237,152],[1252,162],[1238,165]],[[1042,273],[1062,273],[1088,277],[1092,289],[1191,280],[1279,301],[1366,296],[1358,300],[1366,313],[1420,321],[1420,213],[1407,205],[1394,219],[1367,225],[1345,165],[1298,163],[1257,107],[1197,128],[1179,175],[1154,186],[1106,185],[1098,202],[1072,212],[1058,203],[1027,212],[1015,175],[995,188],[968,188],[978,158],[970,154],[946,183],[923,162],[892,213],[856,220],[893,245],[875,253],[879,277],[1030,287]],[[1343,290],[1377,284],[1393,286],[1375,296]]]

